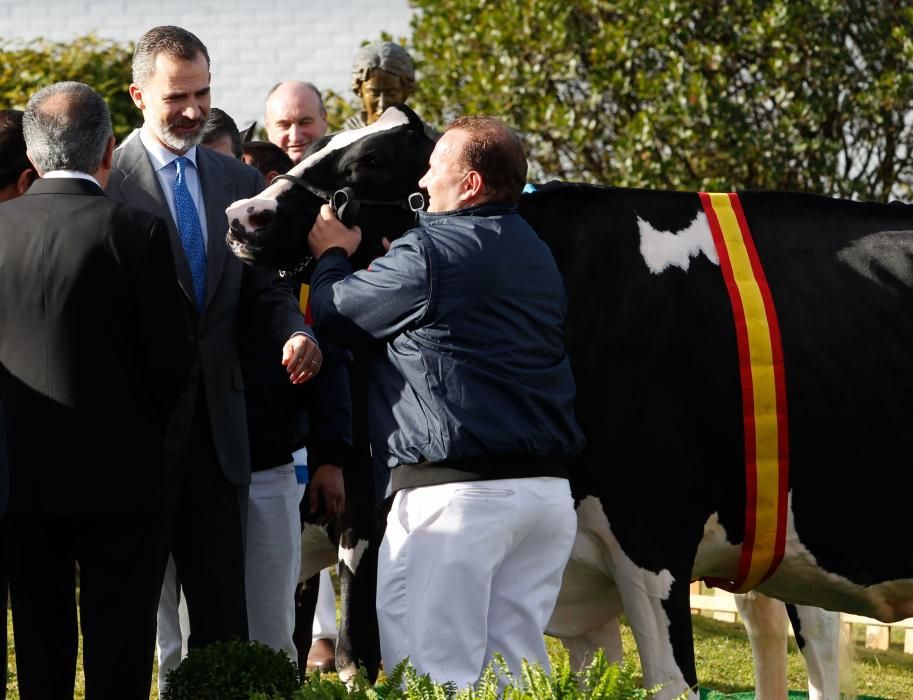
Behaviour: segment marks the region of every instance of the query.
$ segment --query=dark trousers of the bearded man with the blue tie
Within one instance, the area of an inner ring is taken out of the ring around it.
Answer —
[[[187,599],[188,646],[247,639],[244,542],[247,486],[229,483],[219,466],[206,401],[200,392],[187,446],[166,479],[166,547]]]

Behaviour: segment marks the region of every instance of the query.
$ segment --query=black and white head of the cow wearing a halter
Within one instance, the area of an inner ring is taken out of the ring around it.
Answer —
[[[383,237],[392,240],[413,224],[408,197],[418,189],[433,148],[422,121],[404,105],[390,107],[369,126],[324,137],[289,177],[226,209],[228,245],[247,263],[295,269],[310,256],[307,234],[320,206],[347,187],[358,203],[350,204],[357,214],[347,223],[362,229],[352,262],[364,267],[383,254]]]

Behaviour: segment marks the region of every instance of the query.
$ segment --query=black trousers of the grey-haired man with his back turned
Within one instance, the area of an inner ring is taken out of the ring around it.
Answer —
[[[125,494],[127,497],[128,494]],[[76,565],[87,700],[147,700],[162,586],[160,515],[7,517],[22,700],[71,700]]]

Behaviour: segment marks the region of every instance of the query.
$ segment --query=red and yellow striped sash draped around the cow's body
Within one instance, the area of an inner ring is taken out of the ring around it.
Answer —
[[[789,484],[786,380],[780,327],[770,287],[736,194],[700,193],[729,292],[739,348],[745,424],[745,537],[734,581],[708,584],[751,590],[783,559]]]

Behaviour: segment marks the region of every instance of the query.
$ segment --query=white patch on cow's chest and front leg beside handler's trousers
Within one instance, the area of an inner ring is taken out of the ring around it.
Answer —
[[[573,568],[578,567],[574,572]],[[577,536],[548,634],[582,638],[604,628],[608,614],[617,616],[617,603],[602,603],[601,610],[596,608],[596,615],[587,603],[590,599],[600,600],[599,596],[611,598],[607,596],[611,592],[609,580],[614,581],[624,600],[625,614],[637,641],[644,685],[662,685],[658,698],[674,698],[686,692],[688,684],[672,655],[669,618],[662,607],[662,601],[669,598],[672,574],[668,570],[653,573],[634,564],[612,534],[601,501],[588,496],[577,508]],[[596,588],[585,590],[587,583]],[[690,693],[688,697],[698,696]]]

